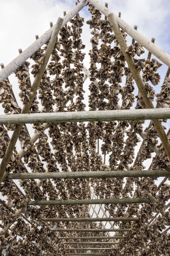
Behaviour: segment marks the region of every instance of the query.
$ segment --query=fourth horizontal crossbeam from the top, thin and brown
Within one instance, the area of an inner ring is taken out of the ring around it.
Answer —
[[[132,217],[127,217],[127,218],[42,218],[42,221],[50,221],[50,222],[77,222],[77,221],[139,221],[139,218],[132,218]]]

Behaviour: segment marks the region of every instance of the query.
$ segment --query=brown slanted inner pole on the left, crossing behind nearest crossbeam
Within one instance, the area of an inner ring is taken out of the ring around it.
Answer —
[[[59,17],[58,20],[57,20],[56,25],[54,26],[49,44],[48,44],[47,49],[45,51],[45,56],[44,56],[44,59],[43,59],[43,63],[42,63],[42,65],[40,65],[40,69],[38,70],[37,75],[36,75],[36,77],[34,79],[34,82],[32,84],[32,87],[31,87],[32,95],[30,96],[30,101],[28,102],[28,104],[23,106],[22,113],[28,113],[28,111],[31,107],[31,104],[34,100],[34,96],[37,92],[37,88],[40,85],[40,81],[41,81],[42,76],[44,74],[45,68],[48,64],[48,60],[51,56],[51,52],[54,49],[54,45],[56,43],[56,39],[57,39],[57,36],[59,34],[59,30],[61,29],[62,23],[63,23],[63,19]],[[37,39],[37,41],[38,41],[38,39]],[[22,55],[22,53],[20,55]],[[3,70],[4,69],[5,68],[3,68]],[[3,174],[6,171],[6,166],[8,165],[8,162],[10,160],[12,151],[14,150],[15,144],[17,142],[17,139],[18,139],[19,135],[20,135],[22,127],[23,127],[22,124],[16,125],[16,128],[15,128],[13,134],[12,134],[11,140],[8,144],[8,147],[7,147],[6,152],[4,154],[3,160],[0,164],[0,182],[2,182]]]

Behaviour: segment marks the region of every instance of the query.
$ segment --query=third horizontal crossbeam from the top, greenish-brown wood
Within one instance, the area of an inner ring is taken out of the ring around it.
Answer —
[[[82,205],[82,204],[142,204],[150,203],[148,198],[111,198],[82,200],[42,200],[30,201],[28,205]]]

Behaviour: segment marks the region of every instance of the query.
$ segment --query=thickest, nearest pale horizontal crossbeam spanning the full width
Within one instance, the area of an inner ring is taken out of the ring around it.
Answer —
[[[0,115],[0,124],[170,119],[169,108]]]

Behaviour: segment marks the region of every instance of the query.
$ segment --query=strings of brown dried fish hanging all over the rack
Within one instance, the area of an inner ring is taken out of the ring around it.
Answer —
[[[124,55],[119,47],[118,41],[113,35],[111,24],[107,20],[101,20],[101,13],[91,4],[89,5],[91,20],[87,23],[91,32],[92,49],[90,55],[91,84],[89,85],[89,108],[90,110],[112,110],[118,108],[119,96],[122,96],[121,109],[133,107],[135,97],[133,94],[134,81],[130,69],[127,67]],[[54,46],[51,61],[42,77],[38,88],[38,98],[41,101],[41,112],[53,112],[54,104],[57,111],[85,111],[83,90],[82,61],[85,53],[82,49],[85,45],[81,39],[84,19],[77,14],[71,21],[71,26],[63,27],[60,38]],[[126,34],[121,31],[126,40]],[[99,42],[101,39],[100,48]],[[112,44],[114,42],[114,47]],[[48,42],[46,43],[48,45]],[[32,55],[35,64],[32,65],[31,73],[35,77],[45,55],[45,46]],[[60,55],[59,55],[60,52]],[[144,49],[139,43],[130,45],[127,48],[132,57],[140,56]],[[147,96],[154,100],[155,90],[153,85],[159,83],[159,73],[156,73],[161,64],[152,59],[134,59],[137,70],[142,71],[143,81],[147,90]],[[20,98],[23,105],[29,102],[31,96],[31,82],[29,76],[29,62],[22,64],[15,75],[20,84]],[[123,76],[126,76],[125,85],[122,86]],[[98,86],[94,81],[98,79]],[[65,89],[64,90],[64,86]],[[166,78],[161,87],[161,93],[156,94],[156,101],[161,108],[170,106],[170,79]],[[75,96],[75,97],[74,97]],[[140,93],[136,96],[136,109],[145,108]],[[71,103],[68,103],[71,101]],[[14,99],[11,84],[8,80],[0,82],[0,103],[5,113],[21,113],[21,109]],[[68,103],[68,104],[67,104]],[[37,96],[31,106],[31,112],[40,112],[38,109]],[[166,121],[166,120],[164,120]],[[24,161],[31,172],[75,172],[75,171],[108,171],[126,169],[144,169],[144,161],[152,157],[153,146],[158,144],[158,134],[151,123],[143,132],[144,121],[133,122],[89,122],[86,124],[60,123],[50,124],[48,135],[44,132],[43,125],[34,124],[34,129],[39,136],[35,144],[37,152],[31,145],[30,137],[26,126],[19,136],[21,148],[26,152]],[[130,124],[130,128],[128,128]],[[7,125],[7,130],[14,130],[15,125]],[[128,129],[127,129],[128,128]],[[7,130],[0,125],[0,157],[2,158],[9,142]],[[135,148],[139,142],[137,133],[144,134],[144,142],[135,156]],[[125,136],[127,136],[125,140]],[[170,139],[170,133],[167,134]],[[51,145],[52,147],[51,147]],[[102,160],[100,150],[104,155]],[[97,152],[96,152],[97,147]],[[170,166],[167,155],[162,144],[158,145],[159,156],[153,158],[152,169],[166,169]],[[40,158],[37,157],[37,153]],[[107,157],[109,155],[109,157]],[[38,160],[37,160],[38,159]],[[109,162],[109,166],[105,164]],[[134,163],[133,163],[134,161]],[[131,166],[133,163],[133,166]],[[46,169],[46,170],[45,170]],[[11,160],[7,166],[8,172],[26,172],[24,163],[19,160],[17,151],[14,150]],[[117,222],[120,228],[131,228],[132,232],[125,235],[125,239],[119,244],[118,249],[112,251],[111,256],[122,255],[169,255],[170,236],[161,232],[170,225],[170,210],[165,205],[170,200],[170,185],[161,183],[158,187],[156,178],[127,178],[125,187],[123,178],[102,179],[66,179],[66,180],[20,180],[20,186],[24,189],[25,195],[20,192],[14,182],[5,180],[0,184],[2,196],[6,196],[6,204],[0,204],[0,220],[3,229],[0,231],[0,250],[6,249],[7,255],[65,255],[65,248],[71,245],[64,245],[58,239],[57,234],[52,233],[48,224],[41,219],[45,217],[89,217],[88,206],[48,206],[28,207],[28,201],[33,200],[57,200],[60,199],[88,199],[91,198],[90,186],[94,187],[95,195],[99,198],[128,198],[128,197],[149,197],[151,204],[128,205],[105,205],[113,217],[138,216],[139,222]],[[140,209],[139,209],[140,208]],[[161,212],[154,220],[154,214]],[[24,219],[23,219],[24,218]],[[67,228],[96,228],[101,224],[93,222],[55,223],[56,227]],[[53,225],[51,226],[53,227]],[[9,230],[10,229],[10,230]],[[65,233],[60,233],[65,236]],[[83,233],[75,233],[77,236],[84,236]],[[105,236],[103,233],[87,233],[89,236]],[[122,235],[122,233],[118,233]],[[17,236],[20,236],[18,239]],[[69,236],[69,234],[66,234]],[[51,237],[50,241],[48,237]],[[129,243],[130,241],[130,243]],[[58,244],[56,247],[55,244]],[[148,246],[149,245],[149,246]],[[79,248],[80,244],[75,245]],[[84,247],[84,246],[83,246]],[[105,247],[105,245],[96,245]],[[0,252],[0,253],[1,253]],[[70,251],[74,253],[74,251]],[[81,250],[77,251],[82,253]],[[96,250],[96,252],[99,252]]]

